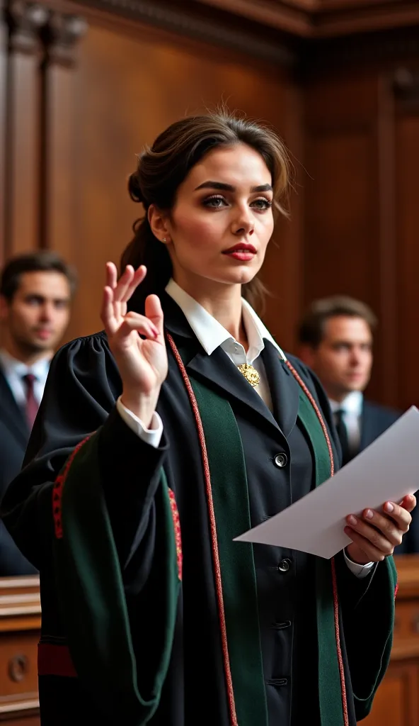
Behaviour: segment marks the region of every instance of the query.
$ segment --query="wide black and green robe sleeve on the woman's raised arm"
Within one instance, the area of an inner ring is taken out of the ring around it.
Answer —
[[[104,334],[59,351],[2,516],[41,583],[54,582],[78,677],[130,726],[159,703],[180,571],[167,444],[154,449],[128,428],[115,407],[120,391]]]

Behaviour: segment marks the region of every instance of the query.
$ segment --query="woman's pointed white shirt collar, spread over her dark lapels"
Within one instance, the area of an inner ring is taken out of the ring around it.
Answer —
[[[234,340],[233,335],[228,333],[228,330],[225,330],[225,327],[215,317],[212,317],[202,305],[196,302],[191,295],[182,290],[175,280],[172,279],[167,283],[166,292],[175,303],[178,303],[196,338],[198,338],[202,348],[209,356],[215,351],[215,348],[222,346],[226,340]],[[286,360],[283,351],[270,335],[269,330],[263,325],[262,320],[257,317],[252,306],[244,298],[241,298],[241,305],[244,327],[249,341],[249,360],[256,359],[265,348],[264,338],[269,340],[275,346],[281,358]]]

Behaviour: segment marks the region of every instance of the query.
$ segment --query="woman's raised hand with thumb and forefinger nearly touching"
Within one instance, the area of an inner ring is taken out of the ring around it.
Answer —
[[[167,354],[157,295],[146,298],[145,315],[127,312],[128,300],[144,277],[144,265],[135,272],[128,265],[118,281],[115,264],[108,262],[101,319],[123,380],[121,400],[148,427],[167,376]]]

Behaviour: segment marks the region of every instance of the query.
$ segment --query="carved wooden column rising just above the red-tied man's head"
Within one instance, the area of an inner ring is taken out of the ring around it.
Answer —
[[[75,50],[83,17],[52,12],[41,36],[41,195],[39,243],[71,259],[75,242]]]

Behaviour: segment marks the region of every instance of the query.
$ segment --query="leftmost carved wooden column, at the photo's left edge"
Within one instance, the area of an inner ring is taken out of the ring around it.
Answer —
[[[38,33],[47,10],[35,3],[10,0],[5,69],[4,195],[1,227],[3,254],[38,245]]]

